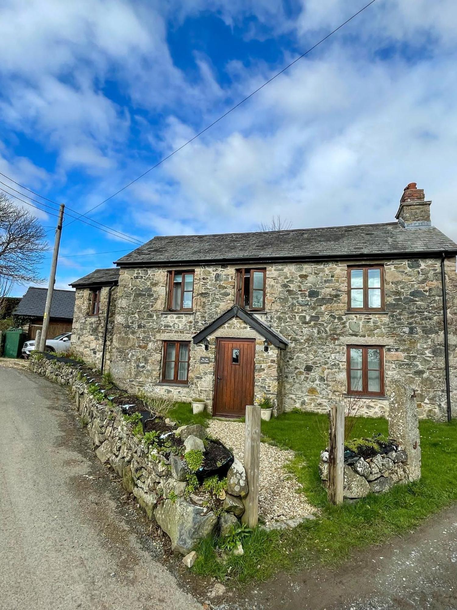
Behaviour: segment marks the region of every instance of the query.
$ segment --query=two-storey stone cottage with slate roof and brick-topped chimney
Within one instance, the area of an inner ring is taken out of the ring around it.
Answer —
[[[264,393],[278,412],[349,395],[384,414],[395,379],[420,416],[457,414],[457,244],[430,204],[409,184],[392,223],[155,237],[72,284],[72,348],[218,416]]]

